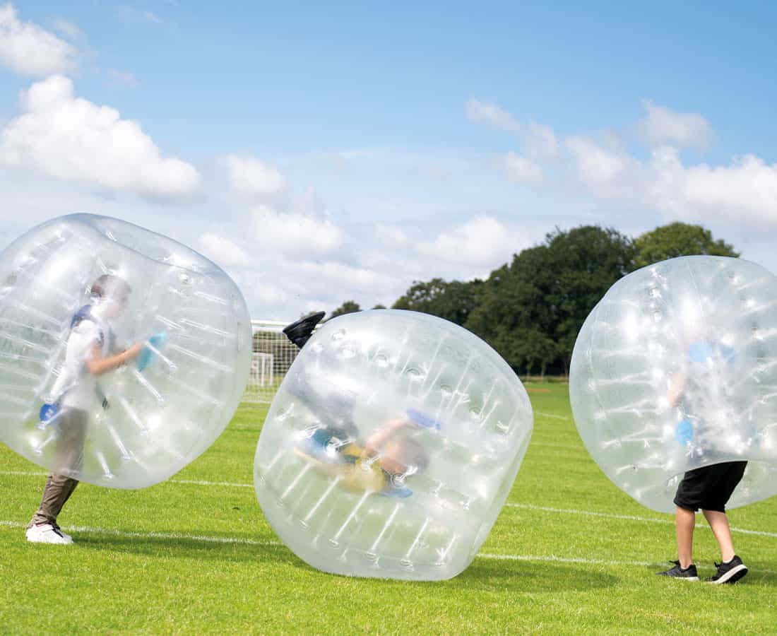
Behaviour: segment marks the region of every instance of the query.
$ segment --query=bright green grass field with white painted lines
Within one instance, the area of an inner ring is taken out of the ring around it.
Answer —
[[[253,491],[266,406],[243,405],[164,484],[79,486],[60,517],[71,547],[26,543],[44,473],[3,446],[0,633],[777,632],[777,498],[730,513],[751,568],[742,582],[659,578],[674,558],[673,517],[591,461],[565,384],[527,388],[535,431],[513,491],[481,554],[446,582],[326,575],[279,543]],[[701,525],[695,553],[699,574],[713,574]]]

